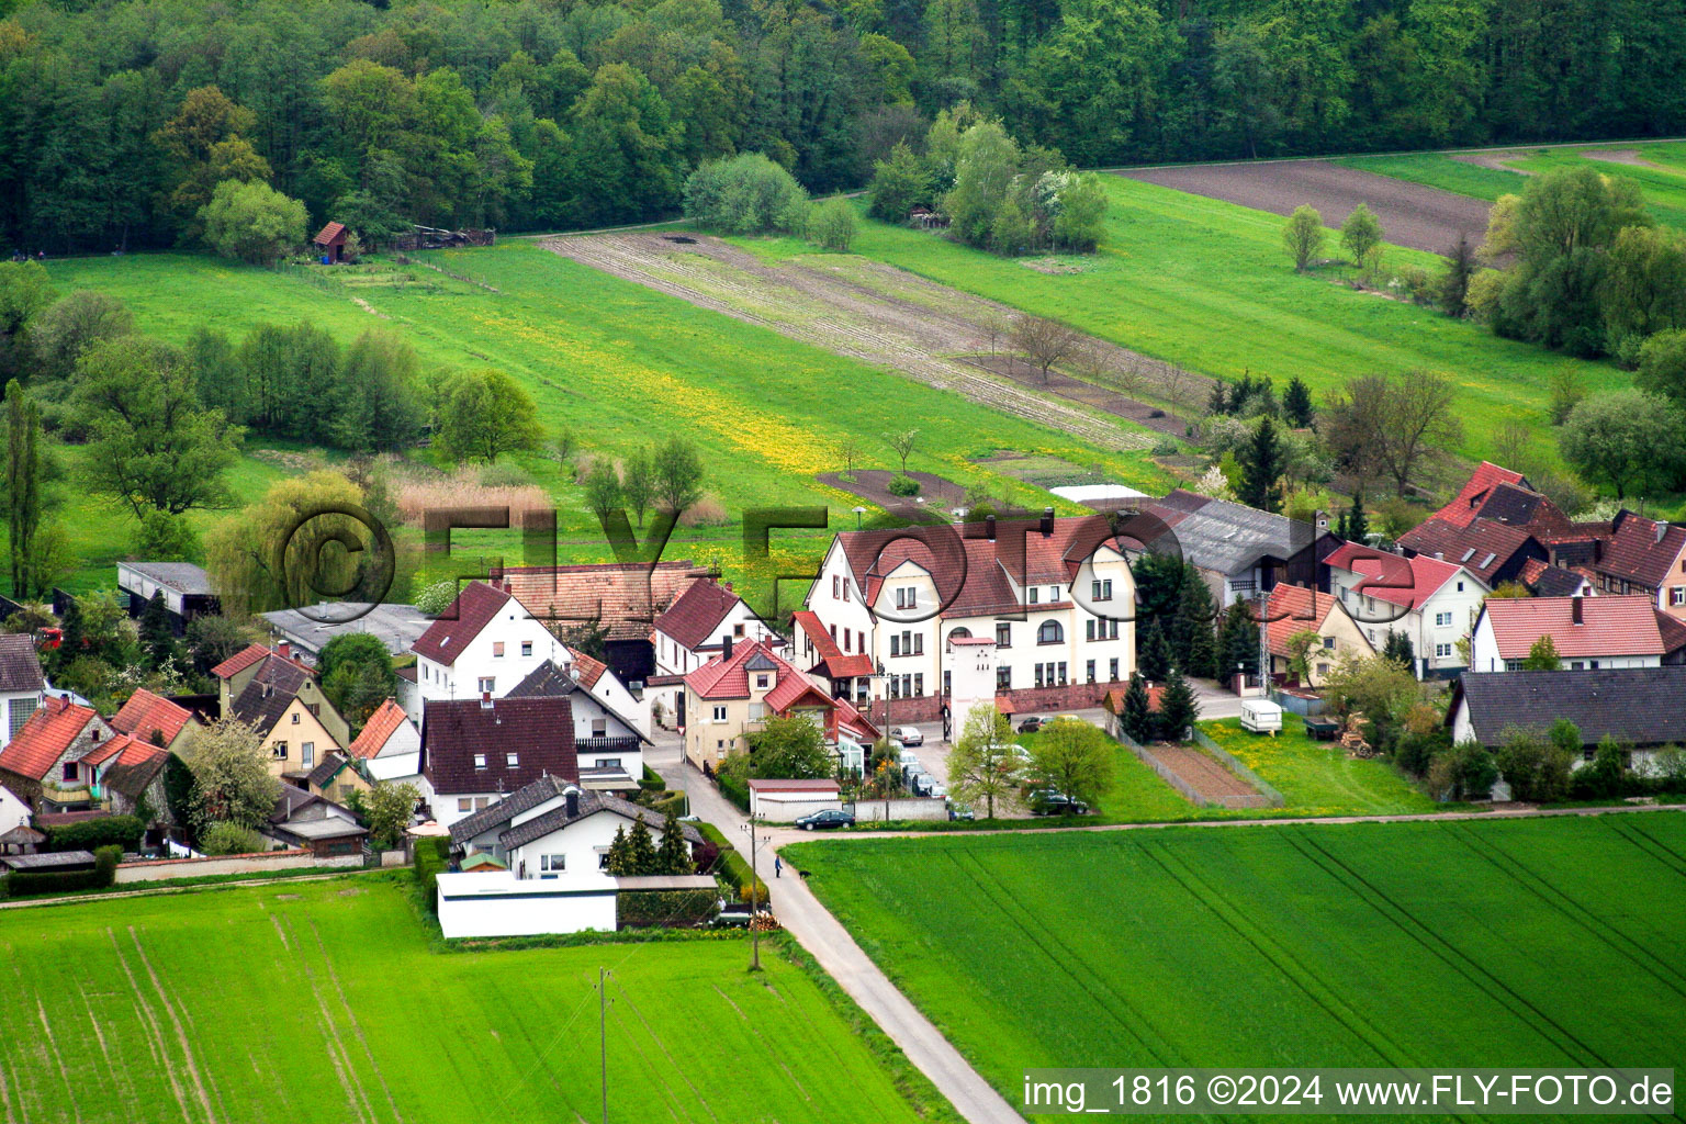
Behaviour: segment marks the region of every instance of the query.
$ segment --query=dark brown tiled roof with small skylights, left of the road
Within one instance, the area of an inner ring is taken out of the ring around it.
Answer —
[[[514,792],[540,777],[578,782],[573,704],[566,698],[428,699],[422,718],[422,772],[435,792]],[[511,767],[507,755],[516,755]],[[486,767],[475,768],[474,757]]]

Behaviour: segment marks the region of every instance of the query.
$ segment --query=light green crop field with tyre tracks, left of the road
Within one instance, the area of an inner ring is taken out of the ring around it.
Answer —
[[[595,1121],[599,967],[610,1121],[954,1119],[737,940],[442,954],[359,878],[10,910],[0,949],[7,1121]]]

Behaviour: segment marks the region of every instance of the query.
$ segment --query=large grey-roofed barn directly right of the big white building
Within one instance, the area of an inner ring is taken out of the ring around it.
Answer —
[[[1185,489],[1141,504],[1140,511],[1170,531],[1170,543],[1146,546],[1170,548],[1194,563],[1219,608],[1254,600],[1280,581],[1329,590],[1322,563],[1340,539],[1330,534],[1324,512],[1317,512],[1315,522],[1302,522]]]

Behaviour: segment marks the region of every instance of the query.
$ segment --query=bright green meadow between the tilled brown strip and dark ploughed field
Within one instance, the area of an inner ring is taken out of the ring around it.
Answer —
[[[1354,374],[1443,372],[1458,386],[1458,452],[1469,457],[1494,453],[1492,438],[1507,420],[1539,418],[1543,428],[1544,391],[1560,367],[1575,367],[1588,389],[1629,383],[1610,364],[1565,359],[1337,285],[1342,270],[1297,275],[1275,214],[1123,177],[1103,180],[1111,201],[1106,238],[1096,256],[1069,260],[1072,273],[1044,273],[885,222],[863,222],[851,249],[1202,374],[1264,374],[1278,389],[1298,374],[1324,398]],[[792,239],[740,244],[771,258],[811,253]],[[1389,248],[1388,256],[1440,268],[1433,254],[1411,249]],[[1549,436],[1534,452],[1556,457]]]

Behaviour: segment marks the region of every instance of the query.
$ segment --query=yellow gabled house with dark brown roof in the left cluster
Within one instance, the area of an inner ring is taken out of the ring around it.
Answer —
[[[217,667],[229,667],[239,659],[236,656]],[[277,777],[303,780],[322,763],[322,755],[349,740],[351,725],[322,694],[315,674],[293,659],[285,644],[275,652],[263,650],[234,674],[217,674],[217,679],[223,716],[251,726],[268,747],[270,770]],[[236,682],[244,684],[238,694],[233,693]]]

